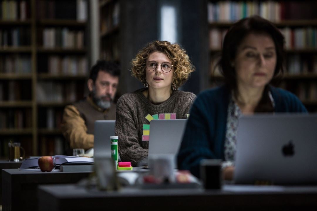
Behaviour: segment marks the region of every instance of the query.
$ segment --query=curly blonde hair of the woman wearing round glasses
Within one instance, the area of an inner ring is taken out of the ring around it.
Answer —
[[[195,71],[195,67],[189,60],[186,51],[178,44],[155,40],[146,44],[131,62],[133,65],[131,75],[142,83],[146,81],[146,59],[153,52],[165,53],[168,59],[171,60],[172,65],[174,65],[172,85],[176,85],[177,88],[187,81],[191,72]]]

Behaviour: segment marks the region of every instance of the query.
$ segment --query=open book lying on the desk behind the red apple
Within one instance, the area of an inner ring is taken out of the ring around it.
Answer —
[[[31,168],[39,168],[38,158],[29,158],[23,160],[20,169],[31,169]],[[54,155],[52,158],[55,158],[55,165],[59,167],[61,164],[63,165],[85,165],[85,164],[94,164],[94,158],[86,158],[86,157],[74,157],[74,156],[66,156],[66,155]]]

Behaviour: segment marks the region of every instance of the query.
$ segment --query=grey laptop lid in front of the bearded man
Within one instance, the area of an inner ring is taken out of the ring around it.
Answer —
[[[110,136],[114,136],[115,120],[97,120],[94,126],[94,158],[110,158]]]

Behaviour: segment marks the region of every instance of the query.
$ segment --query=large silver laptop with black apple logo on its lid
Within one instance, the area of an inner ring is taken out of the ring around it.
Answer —
[[[243,116],[235,183],[317,183],[317,115]]]

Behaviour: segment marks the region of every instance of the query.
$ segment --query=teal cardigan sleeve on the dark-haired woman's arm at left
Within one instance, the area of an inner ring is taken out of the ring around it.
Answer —
[[[196,177],[199,177],[202,159],[216,158],[210,147],[214,142],[214,120],[208,116],[204,100],[198,97],[192,106],[177,157],[178,168],[189,170]]]

